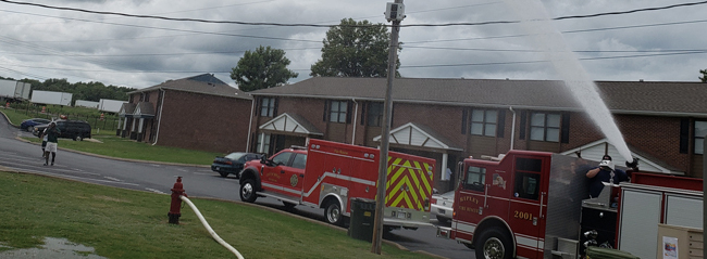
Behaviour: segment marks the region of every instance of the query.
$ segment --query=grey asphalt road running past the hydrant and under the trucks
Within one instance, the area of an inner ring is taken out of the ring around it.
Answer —
[[[163,194],[171,193],[176,177],[181,176],[190,197],[240,200],[238,180],[231,177],[223,179],[210,168],[120,160],[63,150],[57,153],[54,166],[44,166],[41,147],[16,137],[36,138],[8,124],[5,117],[0,115],[0,168]],[[60,139],[60,148],[64,141],[72,140]],[[285,210],[283,204],[273,198],[259,197],[256,204]],[[165,213],[169,207],[169,198],[165,197]],[[322,209],[297,206],[288,212],[324,221]],[[433,223],[436,224],[436,220]],[[417,231],[395,230],[384,238],[410,250],[424,250],[450,259],[474,258],[473,250],[457,242],[438,238],[435,234],[435,228],[426,226]]]

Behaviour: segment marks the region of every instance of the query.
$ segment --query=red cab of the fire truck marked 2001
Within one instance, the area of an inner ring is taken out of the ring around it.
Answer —
[[[579,207],[576,228],[570,223],[572,217],[563,220],[568,224],[548,225],[554,217],[548,215],[548,203],[588,196],[550,196],[550,182],[570,184],[576,177],[570,168],[566,176],[551,176],[551,153],[530,151],[511,151],[500,160],[466,159],[455,195],[451,228],[439,228],[438,234],[474,247],[476,258],[543,258],[544,236],[548,232],[579,230]]]

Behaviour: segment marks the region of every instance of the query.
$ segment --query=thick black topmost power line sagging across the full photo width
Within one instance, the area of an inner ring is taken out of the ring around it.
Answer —
[[[54,9],[54,10],[63,10],[63,11],[74,11],[74,12],[102,14],[102,15],[117,15],[117,16],[137,17],[137,18],[153,18],[153,20],[175,21],[175,22],[197,22],[197,23],[209,23],[209,24],[238,24],[238,25],[256,25],[256,26],[258,26],[258,25],[269,25],[269,26],[283,26],[283,27],[334,27],[334,26],[340,26],[340,25],[299,24],[299,23],[296,23],[296,24],[253,23],[253,22],[215,21],[215,20],[201,20],[201,18],[173,18],[173,17],[165,17],[165,16],[157,16],[157,15],[138,15],[138,14],[127,14],[127,13],[117,13],[117,12],[91,11],[91,10],[77,9],[77,8],[62,8],[62,7],[47,5],[47,4],[40,4],[40,3],[16,2],[16,1],[11,1],[11,0],[0,0],[0,2],[7,2],[7,3],[12,3],[12,4],[22,4],[22,5],[32,5],[32,7],[39,7],[39,8],[45,8],[45,9]],[[687,2],[687,3],[679,3],[679,4],[667,5],[667,7],[635,9],[635,10],[619,11],[619,12],[595,13],[595,14],[587,14],[587,15],[560,16],[560,17],[553,18],[553,20],[559,21],[559,20],[570,20],[570,18],[599,17],[599,16],[607,16],[607,15],[630,14],[630,13],[658,11],[658,10],[666,10],[666,9],[673,9],[673,8],[681,8],[681,7],[691,7],[691,5],[698,5],[698,4],[705,4],[705,3],[707,3],[707,1]],[[491,25],[491,24],[512,24],[512,23],[519,23],[519,22],[520,21],[495,21],[495,22],[476,22],[476,23],[408,24],[408,25],[400,25],[400,27],[477,26],[477,25]],[[365,26],[371,26],[371,25],[347,25],[347,26],[348,27],[365,27]],[[385,25],[385,26],[388,26],[388,25]]]

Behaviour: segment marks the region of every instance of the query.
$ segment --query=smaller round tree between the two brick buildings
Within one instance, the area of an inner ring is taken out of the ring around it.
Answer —
[[[285,57],[284,50],[261,46],[256,51],[246,51],[238,65],[231,72],[231,79],[236,80],[238,89],[246,92],[273,88],[299,76],[287,69],[287,65],[289,60]]]

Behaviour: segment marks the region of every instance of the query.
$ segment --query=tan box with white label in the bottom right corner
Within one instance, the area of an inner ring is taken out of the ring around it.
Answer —
[[[657,259],[704,258],[703,230],[679,225],[658,224]]]

